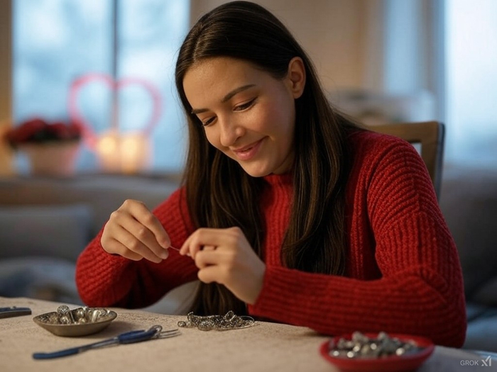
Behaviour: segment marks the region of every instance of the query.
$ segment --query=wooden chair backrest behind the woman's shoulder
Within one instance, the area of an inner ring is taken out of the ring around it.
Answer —
[[[444,154],[444,124],[438,121],[426,121],[420,123],[383,124],[369,128],[378,133],[395,135],[395,137],[400,137],[413,145],[420,144],[420,155],[426,164],[437,198],[439,198]]]

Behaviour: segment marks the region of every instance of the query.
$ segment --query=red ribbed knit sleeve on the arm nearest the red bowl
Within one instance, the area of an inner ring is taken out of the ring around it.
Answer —
[[[268,263],[249,311],[324,334],[386,331],[461,346],[461,267],[425,164],[407,142],[357,136],[346,190],[346,276]]]

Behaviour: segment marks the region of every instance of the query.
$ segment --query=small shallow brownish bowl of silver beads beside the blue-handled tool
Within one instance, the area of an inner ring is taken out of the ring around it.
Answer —
[[[78,337],[94,334],[109,327],[116,319],[114,311],[104,308],[76,308],[69,310],[65,305],[57,311],[33,317],[33,321],[57,336]]]

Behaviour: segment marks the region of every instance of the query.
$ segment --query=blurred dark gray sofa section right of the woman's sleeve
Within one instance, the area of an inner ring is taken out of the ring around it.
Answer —
[[[464,276],[466,349],[497,351],[497,171],[446,164],[440,208]]]

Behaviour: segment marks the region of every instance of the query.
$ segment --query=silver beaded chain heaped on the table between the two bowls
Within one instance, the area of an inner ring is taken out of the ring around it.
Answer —
[[[178,322],[178,327],[198,328],[201,331],[210,331],[217,329],[225,331],[228,329],[240,329],[251,327],[256,321],[253,317],[238,316],[233,311],[226,312],[226,315],[194,315],[193,312],[187,314],[186,322],[181,320]]]

